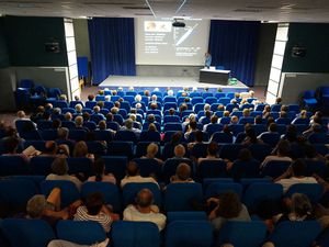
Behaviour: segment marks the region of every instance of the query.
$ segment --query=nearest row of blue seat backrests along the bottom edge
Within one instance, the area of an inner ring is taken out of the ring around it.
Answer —
[[[174,214],[177,215],[177,214]],[[227,222],[220,229],[219,236],[214,238],[213,227],[200,214],[181,214],[184,220],[174,220],[167,225],[163,237],[158,227],[149,222],[118,221],[112,224],[112,247],[211,247],[229,243],[235,247],[256,247],[265,240],[277,247],[306,247],[315,240],[327,246],[329,231],[324,231],[319,223],[283,222],[275,226],[274,232],[266,237],[266,226],[260,221]],[[168,215],[172,217],[172,215]],[[195,220],[196,218],[196,220]],[[95,222],[60,221],[56,233],[42,220],[7,218],[0,223],[0,228],[12,247],[46,247],[53,239],[64,239],[81,245],[92,245],[103,242],[106,234]]]

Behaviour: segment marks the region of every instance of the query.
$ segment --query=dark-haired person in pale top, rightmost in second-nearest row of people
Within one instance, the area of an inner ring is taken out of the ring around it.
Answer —
[[[296,183],[317,183],[314,177],[305,177],[305,161],[303,159],[296,159],[292,166],[274,181],[282,184],[284,193]]]

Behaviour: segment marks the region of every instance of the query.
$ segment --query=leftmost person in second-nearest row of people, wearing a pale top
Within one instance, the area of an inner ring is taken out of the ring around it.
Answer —
[[[46,180],[67,180],[76,184],[78,190],[80,190],[82,182],[75,176],[68,175],[68,165],[66,158],[58,157],[52,164],[53,173],[46,177]]]

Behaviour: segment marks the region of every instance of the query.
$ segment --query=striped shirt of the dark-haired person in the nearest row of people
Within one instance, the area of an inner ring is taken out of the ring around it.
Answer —
[[[99,222],[106,233],[110,232],[112,218],[110,215],[100,212],[98,215],[88,214],[88,210],[84,205],[79,206],[75,215],[75,221],[93,221]]]

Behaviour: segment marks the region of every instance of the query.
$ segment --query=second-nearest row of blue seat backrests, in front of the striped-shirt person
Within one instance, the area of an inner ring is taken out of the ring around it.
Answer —
[[[8,205],[12,212],[23,212],[29,199],[38,193],[47,197],[54,188],[61,189],[63,207],[79,199],[86,199],[92,192],[101,192],[104,202],[111,204],[116,213],[121,213],[125,206],[134,203],[136,194],[145,188],[152,192],[154,203],[164,212],[200,210],[195,206],[227,191],[237,193],[250,213],[261,210],[260,206],[265,201],[280,204],[283,198],[290,198],[294,193],[306,194],[311,203],[317,203],[324,197],[324,189],[318,183],[297,183],[283,193],[283,187],[272,183],[269,179],[242,179],[241,183],[232,182],[230,179],[208,179],[203,184],[170,183],[163,191],[152,182],[126,183],[122,192],[117,186],[110,182],[84,182],[79,192],[71,181],[43,179],[39,176],[16,176],[0,180],[2,206]]]

